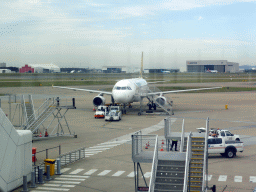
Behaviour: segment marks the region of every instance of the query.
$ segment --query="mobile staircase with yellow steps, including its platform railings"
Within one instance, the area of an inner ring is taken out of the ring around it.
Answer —
[[[180,132],[171,132],[170,118],[165,119],[165,135],[167,140],[178,139],[181,140],[180,152],[187,151],[187,137],[188,133],[184,132],[185,124],[184,119],[182,123],[182,133],[178,137]],[[209,132],[209,118],[206,120],[206,132],[204,137],[199,136],[197,132],[191,133],[191,161],[189,165],[189,179],[188,189],[190,192],[206,191],[208,188],[208,132]],[[168,142],[167,149],[169,149]]]

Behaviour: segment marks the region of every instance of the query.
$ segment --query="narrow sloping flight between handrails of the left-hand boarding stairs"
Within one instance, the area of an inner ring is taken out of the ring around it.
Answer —
[[[56,104],[52,104],[49,107],[47,107],[44,112],[42,112],[36,120],[31,122],[28,127],[26,128],[27,130],[31,130],[32,133],[35,133],[40,125],[55,111],[56,109]]]

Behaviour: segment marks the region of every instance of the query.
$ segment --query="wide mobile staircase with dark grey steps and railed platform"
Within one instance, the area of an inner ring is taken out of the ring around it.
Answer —
[[[148,143],[147,143],[148,141]],[[157,135],[132,135],[132,159],[134,162],[135,192],[187,192],[189,162],[191,159],[191,135],[188,136],[186,152],[158,152]],[[143,149],[143,145],[149,147]],[[140,163],[152,163],[149,185],[147,185]],[[137,167],[137,169],[136,169]],[[139,168],[145,187],[140,187]]]

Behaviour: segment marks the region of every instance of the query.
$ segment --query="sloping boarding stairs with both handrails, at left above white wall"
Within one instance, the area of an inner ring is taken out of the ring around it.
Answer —
[[[38,110],[28,116],[27,122],[23,125],[24,130],[31,130],[32,133],[37,133],[40,125],[42,125],[46,119],[55,111],[57,104],[51,98],[38,108]],[[27,108],[26,108],[27,109]]]

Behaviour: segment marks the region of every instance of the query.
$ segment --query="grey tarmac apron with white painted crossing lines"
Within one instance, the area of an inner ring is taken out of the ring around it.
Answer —
[[[89,157],[62,167],[61,176],[53,176],[52,181],[43,185],[38,184],[37,188],[30,191],[134,191],[130,135],[142,130],[142,134],[157,134],[160,140],[164,139],[163,119],[166,116],[154,114],[138,116],[138,103],[134,103],[132,108],[127,108],[127,114],[121,121],[106,122],[104,119],[94,118],[92,99],[96,94],[93,93],[51,87],[2,88],[0,93],[32,94],[35,109],[45,98],[60,97],[64,104],[71,103],[71,99],[75,98],[76,109],[70,109],[66,119],[77,138],[58,137],[34,141],[33,147],[37,147],[37,151],[58,145],[61,145],[62,153],[80,147],[89,149],[99,146],[102,149],[99,153],[88,153],[91,154]],[[255,92],[233,92],[167,95],[174,103],[173,131],[181,131],[181,122],[185,119],[185,131],[194,132],[198,127],[205,127],[206,118],[209,117],[210,128],[229,129],[232,133],[239,134],[241,141],[245,143],[244,152],[238,153],[235,158],[227,159],[219,154],[210,155],[208,185],[216,185],[217,191],[223,191],[226,187],[224,191],[246,192],[256,187],[255,94]],[[106,99],[110,102],[108,96]],[[9,112],[7,101],[4,98],[1,100],[2,109],[6,114]],[[225,105],[228,105],[228,109],[225,109]],[[15,104],[12,104],[12,114],[14,111]],[[124,142],[115,143],[115,141]],[[52,151],[49,153],[49,158],[56,158],[57,155],[58,151]],[[45,158],[45,154],[38,154],[37,158],[40,161]],[[143,173],[147,176],[147,184],[149,184],[151,166],[150,163],[141,164]],[[141,177],[140,186],[145,186]],[[21,190],[19,188],[14,191]]]

